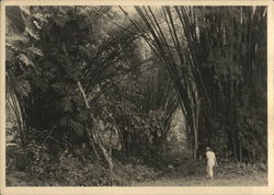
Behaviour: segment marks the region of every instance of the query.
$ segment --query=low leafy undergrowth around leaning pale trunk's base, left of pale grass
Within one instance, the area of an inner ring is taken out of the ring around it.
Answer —
[[[60,151],[50,154],[46,147],[30,144],[24,149],[7,150],[8,186],[105,186],[132,185],[133,182],[156,180],[160,170],[138,164],[128,158],[125,163],[114,159],[114,170],[110,179],[102,160],[79,158]]]

